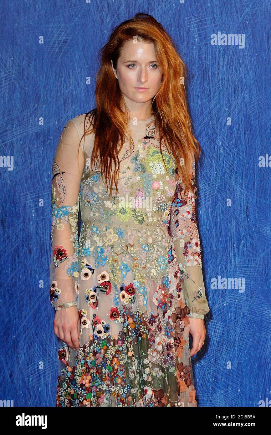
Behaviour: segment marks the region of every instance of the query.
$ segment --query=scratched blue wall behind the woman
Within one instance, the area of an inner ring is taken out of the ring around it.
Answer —
[[[258,165],[259,156],[271,154],[270,1],[9,0],[1,9],[0,154],[13,156],[14,167],[0,168],[0,399],[54,406],[51,162],[67,120],[95,107],[97,52],[110,30],[147,12],[169,31],[187,64],[187,96],[203,150],[197,215],[211,312],[205,345],[192,358],[198,405],[270,400],[271,168]],[[211,45],[218,32],[244,34],[244,48]],[[244,278],[244,292],[212,289],[218,276]]]

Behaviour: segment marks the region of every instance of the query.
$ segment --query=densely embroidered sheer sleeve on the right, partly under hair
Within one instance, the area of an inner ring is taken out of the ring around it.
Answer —
[[[191,167],[191,180],[195,183],[195,162]],[[210,311],[205,296],[201,263],[201,243],[198,234],[194,193],[181,194],[184,187],[177,184],[170,212],[170,234],[174,241],[177,260],[183,279],[182,288],[189,317],[204,320]]]

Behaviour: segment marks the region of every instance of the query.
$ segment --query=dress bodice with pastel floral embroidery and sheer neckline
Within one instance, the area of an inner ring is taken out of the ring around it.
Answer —
[[[116,262],[126,253],[129,263],[136,258],[156,281],[167,268],[172,244],[167,228],[176,189],[175,161],[163,142],[161,154],[153,117],[130,119],[130,131],[133,144],[126,141],[120,152],[118,192],[111,196],[100,172],[90,167],[91,142],[84,147],[80,206],[85,231],[80,246],[86,254],[88,248],[101,249]]]

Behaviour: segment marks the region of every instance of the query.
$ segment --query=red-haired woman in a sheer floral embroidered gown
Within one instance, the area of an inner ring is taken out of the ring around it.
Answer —
[[[62,131],[52,180],[56,406],[197,406],[191,356],[209,307],[184,74],[161,24],[138,13],[103,48],[97,108]]]

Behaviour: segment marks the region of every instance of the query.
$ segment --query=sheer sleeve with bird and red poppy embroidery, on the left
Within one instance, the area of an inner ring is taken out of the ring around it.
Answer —
[[[79,133],[73,120],[64,125],[52,164],[50,301],[55,309],[76,305],[78,293],[78,212],[85,160]]]

